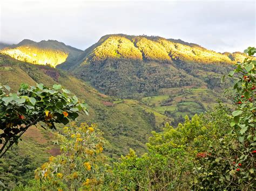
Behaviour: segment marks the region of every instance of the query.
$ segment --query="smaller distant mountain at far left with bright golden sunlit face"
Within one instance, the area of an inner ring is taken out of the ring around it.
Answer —
[[[73,62],[81,50],[67,46],[57,40],[42,40],[39,43],[24,39],[17,45],[4,47],[2,54],[10,55],[19,61],[56,67],[63,62]]]

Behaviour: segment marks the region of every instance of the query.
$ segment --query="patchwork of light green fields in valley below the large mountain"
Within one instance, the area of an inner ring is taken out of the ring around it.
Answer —
[[[206,87],[164,88],[160,92],[162,95],[143,97],[141,101],[171,119],[192,117],[212,108],[217,100],[227,101],[223,94]]]

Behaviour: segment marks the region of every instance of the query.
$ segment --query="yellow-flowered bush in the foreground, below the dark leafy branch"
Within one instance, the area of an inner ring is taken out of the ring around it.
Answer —
[[[102,154],[105,140],[96,124],[86,123],[63,128],[63,135],[56,133],[56,143],[61,154],[51,156],[35,171],[35,181],[28,190],[99,189],[104,182],[107,165]]]

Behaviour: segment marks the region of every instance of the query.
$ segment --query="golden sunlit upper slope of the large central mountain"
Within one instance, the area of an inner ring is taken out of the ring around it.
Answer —
[[[201,63],[236,63],[243,53],[217,53],[200,46],[189,46],[169,39],[146,36],[111,35],[90,53],[91,61],[106,58],[145,60],[187,60]]]

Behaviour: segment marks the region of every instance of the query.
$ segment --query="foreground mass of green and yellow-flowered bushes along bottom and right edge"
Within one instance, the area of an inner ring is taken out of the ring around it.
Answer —
[[[255,52],[247,49],[249,56]],[[38,180],[25,189],[255,189],[255,61],[245,59],[230,76],[234,73],[234,111],[218,104],[199,116],[186,116],[177,128],[166,123],[163,132],[152,132],[141,157],[130,150],[106,167],[100,154],[103,139],[100,133],[93,136],[95,127],[65,127],[59,136],[63,154],[38,168]]]

